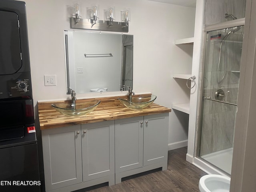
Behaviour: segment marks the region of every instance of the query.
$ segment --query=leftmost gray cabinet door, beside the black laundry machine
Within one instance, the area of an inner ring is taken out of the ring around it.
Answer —
[[[81,125],[42,130],[46,191],[82,182]]]

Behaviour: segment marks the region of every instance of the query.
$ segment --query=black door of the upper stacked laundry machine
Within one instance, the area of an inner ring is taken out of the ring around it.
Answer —
[[[0,10],[0,75],[14,74],[22,66],[18,15]]]

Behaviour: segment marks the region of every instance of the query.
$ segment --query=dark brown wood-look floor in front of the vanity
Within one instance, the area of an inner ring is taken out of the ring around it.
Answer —
[[[199,179],[205,172],[186,161],[187,147],[168,152],[168,168],[136,174],[120,184],[100,184],[76,192],[199,192]]]

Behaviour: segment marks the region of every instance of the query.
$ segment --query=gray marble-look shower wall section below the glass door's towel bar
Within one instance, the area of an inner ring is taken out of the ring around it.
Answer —
[[[204,108],[200,155],[231,148],[236,106],[205,100]]]

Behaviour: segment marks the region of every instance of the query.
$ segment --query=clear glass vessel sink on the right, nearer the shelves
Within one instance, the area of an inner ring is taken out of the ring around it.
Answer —
[[[118,98],[119,101],[124,104],[126,107],[135,109],[135,110],[141,110],[143,108],[146,108],[150,104],[156,100],[155,95],[147,95],[147,96],[133,96],[132,101],[128,101],[128,99],[121,99]]]

